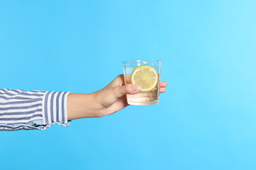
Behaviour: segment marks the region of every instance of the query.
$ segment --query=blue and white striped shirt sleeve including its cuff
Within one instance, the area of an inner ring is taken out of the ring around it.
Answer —
[[[69,93],[0,88],[0,130],[47,129],[53,124],[69,126]]]

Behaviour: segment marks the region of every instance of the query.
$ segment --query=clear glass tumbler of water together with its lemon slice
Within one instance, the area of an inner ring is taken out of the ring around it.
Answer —
[[[145,69],[146,68],[146,69]],[[160,96],[160,80],[161,80],[161,60],[141,59],[123,61],[123,74],[125,84],[143,85],[143,81],[135,81],[137,75],[142,77],[156,77],[156,80],[148,81],[151,84],[148,89],[142,90],[137,94],[127,94],[127,102],[129,105],[152,105],[159,103]],[[133,75],[133,76],[131,76]],[[138,77],[138,76],[137,76]],[[145,79],[147,81],[147,79]]]

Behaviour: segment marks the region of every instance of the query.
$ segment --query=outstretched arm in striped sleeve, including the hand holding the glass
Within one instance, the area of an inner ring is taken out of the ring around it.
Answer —
[[[160,92],[165,92],[166,86],[161,82]],[[125,94],[138,92],[140,86],[124,85],[123,75],[94,93],[0,88],[0,131],[69,126],[68,120],[106,116],[128,106]]]

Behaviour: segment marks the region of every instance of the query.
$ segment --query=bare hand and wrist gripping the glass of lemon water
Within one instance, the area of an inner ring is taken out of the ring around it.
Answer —
[[[165,92],[167,82],[160,82],[160,93]],[[68,120],[100,118],[113,114],[127,106],[126,94],[139,93],[141,86],[125,85],[123,75],[117,76],[108,86],[94,93],[70,93],[68,95]]]

